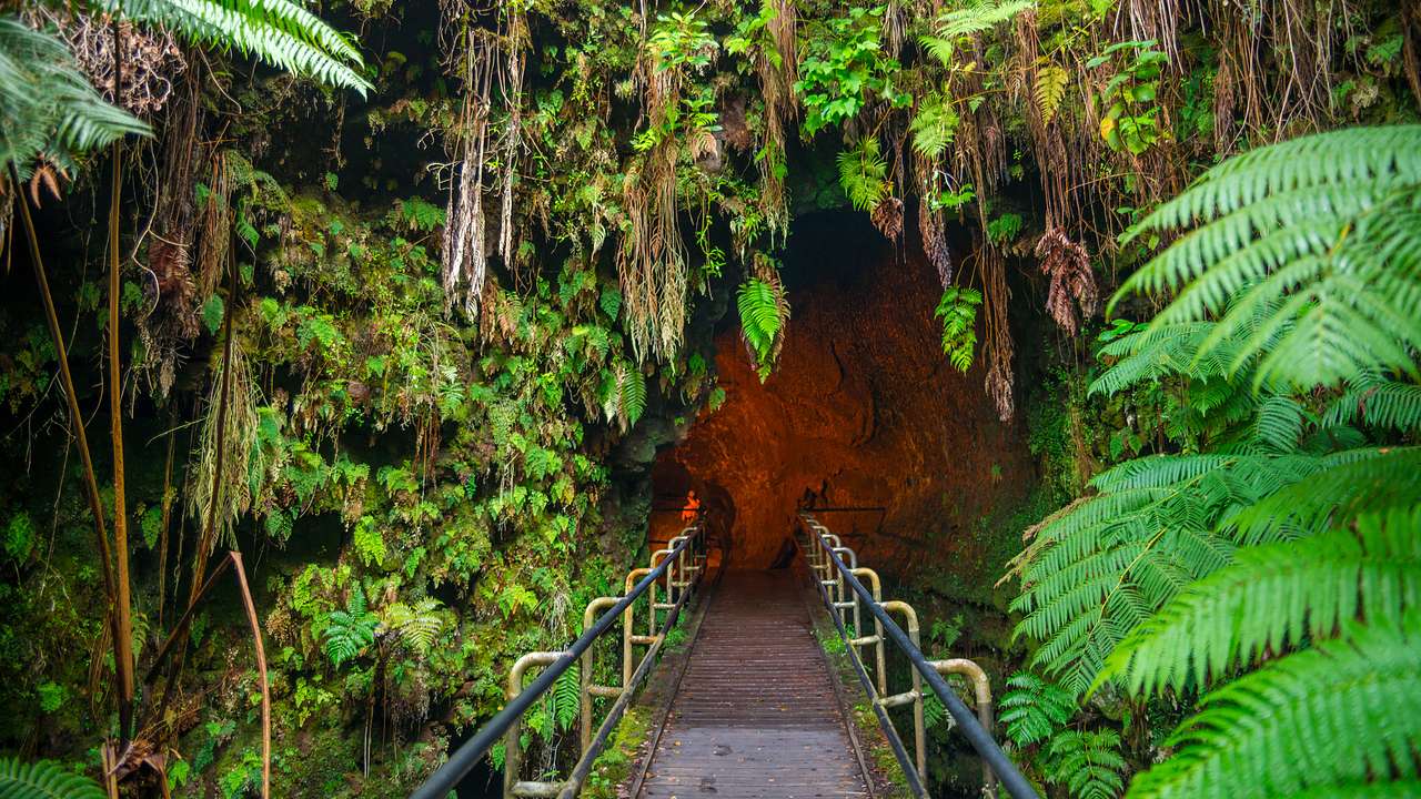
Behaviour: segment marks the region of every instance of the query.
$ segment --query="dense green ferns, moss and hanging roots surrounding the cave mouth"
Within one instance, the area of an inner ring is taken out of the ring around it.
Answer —
[[[1414,14],[1145,6],[13,4],[0,246],[50,272],[0,310],[0,748],[75,765],[0,772],[408,795],[644,562],[658,448],[726,401],[712,331],[767,380],[827,212],[926,260],[944,363],[1027,408],[1063,508],[1016,640],[934,638],[1012,674],[1033,779],[1415,790],[1414,725],[1373,734],[1417,694]],[[198,590],[229,549],[266,681],[230,576]]]

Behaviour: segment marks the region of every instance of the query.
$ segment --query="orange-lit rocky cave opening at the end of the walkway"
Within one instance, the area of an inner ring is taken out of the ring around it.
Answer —
[[[725,402],[658,454],[652,486],[662,509],[688,490],[702,498],[730,566],[787,563],[807,506],[845,509],[826,523],[902,570],[926,542],[948,542],[939,556],[968,546],[971,536],[952,533],[1030,482],[1020,425],[998,421],[982,365],[963,375],[942,355],[942,289],[917,240],[909,229],[895,246],[861,213],[799,218],[782,270],[791,318],[764,382],[735,311],[718,326]],[[654,515],[652,539],[678,523]]]

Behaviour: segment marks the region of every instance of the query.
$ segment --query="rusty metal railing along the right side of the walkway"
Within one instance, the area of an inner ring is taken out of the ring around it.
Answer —
[[[1007,759],[1006,754],[992,738],[992,687],[982,668],[963,658],[928,660],[922,654],[918,614],[911,604],[899,600],[882,599],[882,581],[872,569],[858,564],[858,556],[853,549],[843,545],[843,540],[831,533],[810,513],[801,513],[804,522],[806,540],[800,545],[804,559],[810,566],[810,573],[824,600],[834,626],[838,628],[844,644],[848,648],[850,660],[854,664],[864,691],[872,699],[878,724],[888,738],[904,773],[908,776],[909,788],[919,796],[926,796],[924,785],[928,783],[926,773],[926,724],[924,719],[924,681],[942,701],[948,714],[962,728],[963,735],[982,758],[982,792],[989,799],[998,795],[996,782],[1013,799],[1037,799],[1026,778]],[[845,563],[847,559],[847,563]],[[864,586],[868,581],[868,587]],[[864,610],[872,618],[874,631],[864,634]],[[894,621],[894,616],[901,616],[904,626]],[[851,624],[851,627],[850,627]],[[853,633],[850,633],[853,630]],[[907,691],[888,692],[888,670],[885,644],[892,643],[912,663],[912,684]],[[872,647],[874,680],[868,678],[868,667],[860,650]],[[965,677],[973,690],[973,704],[976,714],[968,711],[966,704],[958,698],[956,692],[946,684],[944,675],[958,674]],[[887,708],[912,705],[914,758],[908,762],[907,751],[897,728],[885,712]]]

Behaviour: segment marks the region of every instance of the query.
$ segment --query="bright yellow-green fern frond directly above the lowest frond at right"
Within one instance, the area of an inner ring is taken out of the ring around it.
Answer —
[[[1205,685],[1260,657],[1330,637],[1360,616],[1421,601],[1421,510],[1368,515],[1357,530],[1241,550],[1125,638],[1100,681],[1133,692]]]

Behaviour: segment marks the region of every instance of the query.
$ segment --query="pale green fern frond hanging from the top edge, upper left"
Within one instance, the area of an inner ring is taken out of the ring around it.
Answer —
[[[236,50],[296,75],[352,88],[372,87],[360,50],[291,0],[95,0],[108,13],[159,24],[196,44]]]

